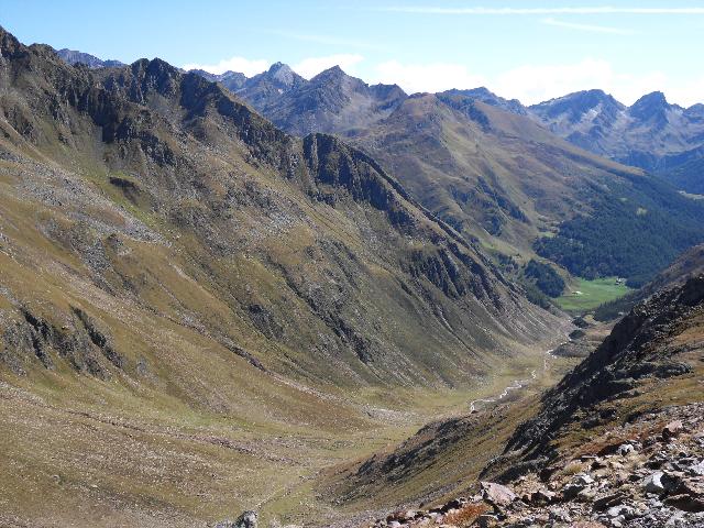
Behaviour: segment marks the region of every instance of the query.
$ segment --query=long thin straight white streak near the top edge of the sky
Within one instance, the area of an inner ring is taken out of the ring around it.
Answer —
[[[573,7],[573,8],[438,8],[432,6],[389,6],[377,8],[380,11],[416,14],[704,14],[704,8],[617,8],[614,6]]]

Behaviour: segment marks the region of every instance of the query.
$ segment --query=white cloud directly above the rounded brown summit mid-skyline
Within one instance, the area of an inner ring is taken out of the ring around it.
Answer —
[[[443,91],[451,88],[474,88],[485,84],[482,76],[453,63],[402,64],[388,61],[376,66],[377,80],[397,84],[409,94]]]

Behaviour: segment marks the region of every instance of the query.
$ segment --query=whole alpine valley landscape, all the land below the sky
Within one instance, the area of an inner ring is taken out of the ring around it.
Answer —
[[[0,28],[0,526],[704,526],[704,107]]]

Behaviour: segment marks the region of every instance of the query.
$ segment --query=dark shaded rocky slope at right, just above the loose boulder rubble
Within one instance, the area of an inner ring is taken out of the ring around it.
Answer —
[[[507,452],[520,450],[529,459],[551,457],[554,440],[575,432],[582,420],[593,418],[594,424],[581,425],[590,429],[614,419],[608,414],[600,417],[596,407],[622,407],[617,416],[624,417],[624,409],[632,403],[618,404],[619,397],[657,408],[652,394],[644,397],[644,393],[662,385],[659,380],[685,376],[688,382],[695,381],[689,374],[694,372],[691,362],[696,346],[688,348],[678,338],[701,333],[703,302],[704,278],[696,276],[634,308],[594,353],[544,395],[541,413],[516,431]],[[704,395],[692,396],[696,400]]]

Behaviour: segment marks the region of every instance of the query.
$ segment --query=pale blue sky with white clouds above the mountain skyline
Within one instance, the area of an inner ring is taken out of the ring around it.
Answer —
[[[601,88],[704,102],[704,0],[0,0],[25,44],[248,76],[339,65],[408,92],[486,86],[530,105]]]

